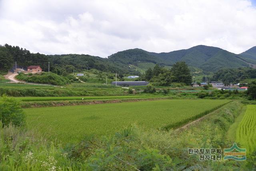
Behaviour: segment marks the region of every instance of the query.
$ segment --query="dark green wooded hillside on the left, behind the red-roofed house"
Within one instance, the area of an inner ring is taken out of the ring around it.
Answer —
[[[27,67],[30,65],[39,65],[43,71],[48,71],[48,62],[50,62],[50,71],[59,75],[72,73],[73,70],[81,71],[83,69],[97,69],[106,72],[132,73],[138,74],[128,65],[120,62],[114,63],[106,58],[100,58],[90,55],[66,54],[66,55],[44,55],[33,54],[30,51],[18,46],[5,44],[0,46],[0,70],[10,70],[14,63],[18,66]]]

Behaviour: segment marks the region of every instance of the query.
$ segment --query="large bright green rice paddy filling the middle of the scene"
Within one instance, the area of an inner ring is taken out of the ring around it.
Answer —
[[[229,100],[156,100],[24,109],[28,128],[48,137],[76,142],[87,135],[113,134],[138,124],[157,129],[227,103]]]

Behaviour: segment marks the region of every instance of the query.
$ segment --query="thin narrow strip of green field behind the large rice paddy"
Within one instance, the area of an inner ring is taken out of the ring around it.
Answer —
[[[146,97],[166,97],[163,95],[122,95],[122,96],[86,96],[86,97],[14,97],[20,101],[60,101],[60,100],[91,100],[91,99],[126,99],[126,98],[146,98]],[[1,97],[0,97],[1,98]]]

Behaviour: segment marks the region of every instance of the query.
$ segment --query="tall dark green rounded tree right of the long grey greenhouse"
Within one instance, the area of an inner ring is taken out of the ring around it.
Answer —
[[[176,62],[171,69],[173,82],[185,83],[190,85],[192,82],[192,76],[188,65],[185,62]]]

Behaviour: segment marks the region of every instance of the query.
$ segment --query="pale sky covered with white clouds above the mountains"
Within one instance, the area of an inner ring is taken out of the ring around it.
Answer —
[[[256,0],[0,0],[0,44],[107,58],[196,45],[256,46]]]

